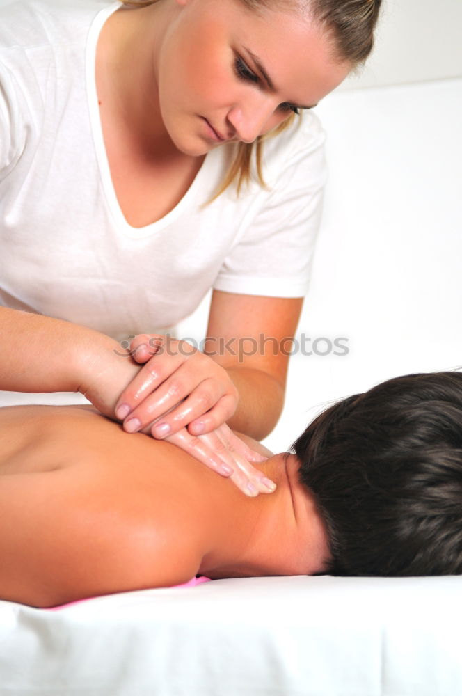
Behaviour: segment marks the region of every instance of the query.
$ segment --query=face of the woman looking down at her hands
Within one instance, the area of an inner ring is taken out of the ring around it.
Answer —
[[[257,14],[240,0],[174,0],[154,70],[164,125],[185,154],[253,142],[349,73],[295,10]]]

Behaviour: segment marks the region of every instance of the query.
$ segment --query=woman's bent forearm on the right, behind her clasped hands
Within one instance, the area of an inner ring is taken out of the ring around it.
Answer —
[[[279,420],[284,406],[284,387],[262,370],[230,367],[226,371],[239,392],[239,405],[228,425],[255,440],[262,440]]]

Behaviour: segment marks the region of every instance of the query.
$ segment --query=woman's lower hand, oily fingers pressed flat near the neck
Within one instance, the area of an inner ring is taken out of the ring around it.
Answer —
[[[217,473],[229,476],[246,496],[254,497],[258,493],[272,493],[276,490],[276,484],[251,464],[266,461],[267,457],[251,450],[234,435],[228,425],[223,424],[213,432],[198,437],[182,428],[167,437],[166,441],[189,452]]]

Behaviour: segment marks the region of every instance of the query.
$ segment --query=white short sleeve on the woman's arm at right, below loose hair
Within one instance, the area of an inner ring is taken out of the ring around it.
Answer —
[[[295,133],[268,141],[269,191],[260,189],[250,204],[255,212],[225,258],[216,290],[274,297],[308,291],[327,167],[324,130],[313,113],[304,119]]]

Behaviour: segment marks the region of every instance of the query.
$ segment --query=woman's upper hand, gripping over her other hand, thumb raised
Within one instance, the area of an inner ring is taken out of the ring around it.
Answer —
[[[203,435],[236,411],[239,394],[228,372],[187,341],[141,334],[130,349],[134,360],[146,364],[116,406],[127,432],[148,428],[161,439],[187,427],[191,435]]]

